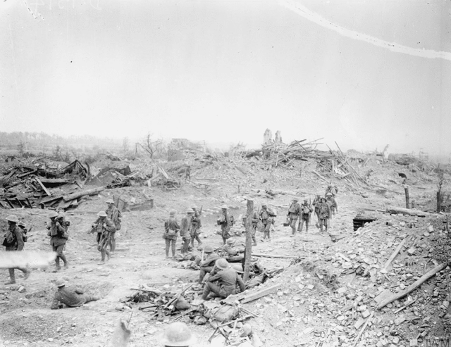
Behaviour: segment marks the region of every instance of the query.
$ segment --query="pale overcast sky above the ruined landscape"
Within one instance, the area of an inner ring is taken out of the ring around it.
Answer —
[[[445,0],[6,0],[0,130],[447,156],[450,52]]]

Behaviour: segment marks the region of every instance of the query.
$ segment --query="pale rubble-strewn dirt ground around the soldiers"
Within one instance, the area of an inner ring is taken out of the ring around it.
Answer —
[[[271,242],[259,241],[253,251],[304,258],[296,264],[290,264],[291,259],[260,260],[265,267],[285,268],[264,284],[283,284],[276,294],[244,305],[259,315],[249,323],[264,346],[352,346],[360,330],[354,326],[360,317],[357,309],[366,305],[369,310],[374,310],[376,302],[373,298],[383,289],[399,291],[434,267],[431,248],[433,239],[444,234],[443,215],[421,218],[367,211],[366,214],[378,220],[357,232],[352,227],[353,217],[362,210],[385,210],[387,205],[404,207],[404,189],[398,172],[412,177],[410,194],[416,208],[434,210],[436,177],[433,172],[409,172],[406,167],[381,162],[357,168],[362,173],[373,169],[369,181],[387,189],[369,189],[363,184],[355,187],[324,174],[340,189],[337,196],[339,213],[333,217],[330,231],[342,238],[333,242],[314,225],[309,233],[302,232],[291,238],[291,230],[283,227],[283,222],[292,196],[276,194],[267,198],[264,194],[265,189],[279,189],[312,200],[314,194],[324,194],[327,183],[312,172],[315,169],[313,161],[299,164],[295,170],[259,170],[252,165],[242,165],[237,170],[235,166],[226,161],[199,167],[193,170],[192,180],[204,184],[184,182],[180,189],[171,191],[142,186],[106,189],[99,196],[86,198],[75,210],[66,212],[71,222],[66,246],[70,262],[68,270],[54,273],[51,272],[53,266],[34,270],[26,281],[18,272],[18,283],[11,286],[3,285],[8,280],[8,271],[0,270],[0,346],[106,346],[118,322],[128,320],[130,315],[132,337],[129,346],[158,346],[159,335],[167,321],[150,320],[149,313],[143,313],[134,305],[131,309],[126,305],[125,309],[118,309],[123,308],[121,301],[135,292],[132,288],[140,284],[177,293],[197,279],[197,271],[183,268],[176,260],[165,259],[161,238],[168,211],[178,210],[180,219],[192,205],[202,206],[204,211],[202,241],[219,247],[222,241],[216,234],[216,218],[223,203],[230,206],[230,212],[238,220],[245,213],[246,198],[253,198],[259,205],[266,202],[278,211],[276,230]],[[130,200],[143,193],[154,198],[154,208],[123,213],[121,231],[116,233],[116,253],[106,265],[98,265],[100,254],[94,235],[87,234],[96,213],[106,208],[104,201],[113,195]],[[11,210],[0,210],[1,220],[10,213]],[[33,226],[25,249],[49,250],[44,228],[48,211],[16,209],[13,213]],[[245,231],[240,222],[235,229]],[[373,272],[368,277],[356,272],[346,275],[345,270],[353,269],[359,263],[381,268],[408,235],[413,236],[412,241],[407,242],[386,276]],[[244,235],[241,237],[245,239]],[[180,242],[179,238],[178,246]],[[412,255],[407,252],[411,247],[416,249]],[[326,281],[331,275],[335,275],[333,283]],[[443,301],[449,303],[448,276],[449,268],[414,291],[411,295],[416,298],[416,303],[401,313],[394,312],[404,304],[405,298],[375,310],[376,319],[366,328],[357,346],[412,346],[412,339],[416,339],[419,346],[426,346],[428,338],[444,336],[442,320],[446,308],[440,307]],[[101,295],[101,300],[80,308],[50,310],[51,298],[56,291],[54,282],[61,277],[69,286],[81,286],[90,294]],[[25,287],[25,291],[18,291],[20,286]],[[397,324],[400,315],[405,319]],[[185,322],[196,334],[198,346],[209,346],[207,340],[214,329],[209,324],[192,324],[189,318]],[[380,341],[382,344],[378,345]]]

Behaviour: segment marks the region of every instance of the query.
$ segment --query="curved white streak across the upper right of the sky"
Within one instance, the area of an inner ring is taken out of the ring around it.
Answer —
[[[421,56],[423,58],[442,58],[447,61],[451,61],[450,52],[433,51],[432,49],[415,49],[408,46],[402,46],[402,44],[397,44],[396,42],[387,42],[382,39],[362,34],[361,32],[355,32],[353,30],[346,29],[345,27],[340,27],[334,23],[330,23],[326,18],[321,17],[321,15],[319,15],[318,13],[310,11],[305,6],[297,4],[294,1],[279,0],[279,4],[281,6],[285,6],[291,11],[294,11],[302,17],[311,20],[311,22],[314,22],[323,27],[327,27],[330,30],[338,32],[338,34],[342,36],[350,37],[350,39],[357,39],[360,41],[368,42],[369,44],[373,44],[374,46],[389,49],[390,51],[397,53],[409,54],[410,56]]]

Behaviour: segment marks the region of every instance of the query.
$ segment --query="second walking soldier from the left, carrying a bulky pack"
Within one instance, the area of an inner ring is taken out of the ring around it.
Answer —
[[[56,252],[55,258],[55,270],[53,272],[58,272],[61,270],[59,260],[63,260],[64,268],[69,267],[66,255],[63,251],[66,247],[66,241],[68,241],[67,226],[63,215],[58,215],[56,211],[51,211],[49,213],[50,221],[47,223],[47,233],[50,236],[50,246],[54,252]]]

